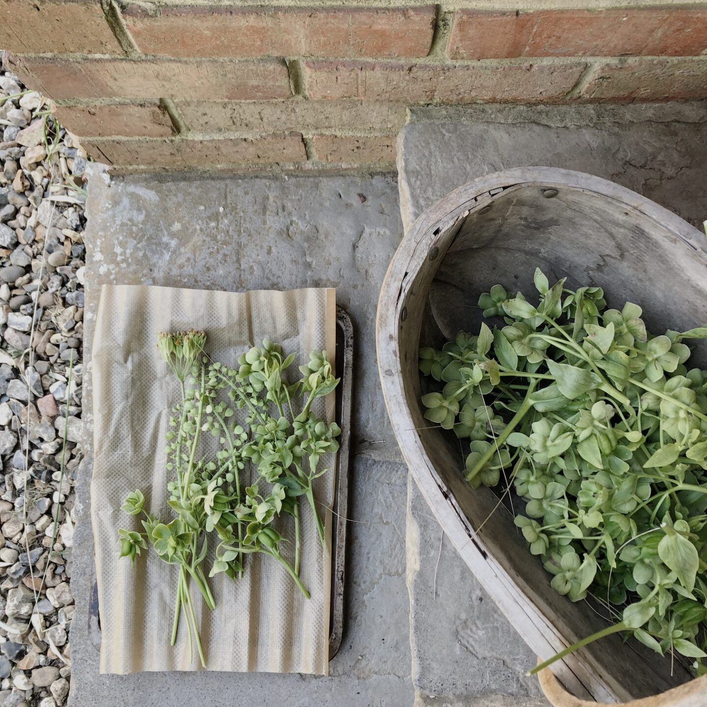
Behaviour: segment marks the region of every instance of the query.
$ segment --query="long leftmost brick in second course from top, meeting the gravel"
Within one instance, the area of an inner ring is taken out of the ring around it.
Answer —
[[[175,62],[127,59],[11,59],[26,85],[49,98],[288,98],[287,67],[259,62]]]

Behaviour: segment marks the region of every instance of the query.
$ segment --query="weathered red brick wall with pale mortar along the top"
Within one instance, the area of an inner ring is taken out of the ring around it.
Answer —
[[[124,169],[389,168],[411,105],[707,98],[707,0],[283,1],[0,0],[0,49]]]

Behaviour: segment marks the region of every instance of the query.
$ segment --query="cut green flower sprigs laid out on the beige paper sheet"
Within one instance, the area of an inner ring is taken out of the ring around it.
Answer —
[[[309,363],[300,367],[303,378],[291,383],[286,369],[295,354],[284,357],[281,346],[269,339],[240,356],[238,368],[211,361],[204,355],[205,345],[205,332],[163,333],[158,337],[160,354],[179,381],[181,392],[170,416],[165,448],[172,477],[167,484],[168,505],[175,518],[162,522],[148,513],[143,493],[136,490],[128,494],[122,509],[130,515],[144,516],[144,532],[118,531],[120,555],[133,563],[151,542],[160,559],[179,566],[171,643],[176,641],[183,612],[190,655],[193,660],[195,644],[204,667],[206,658],[189,583],[197,585],[206,606],[214,609],[214,597],[202,568],[209,539],[215,535],[217,540],[209,577],[225,573],[236,580],[243,575],[247,555],[263,554],[278,561],[309,598],[299,576],[299,497],[308,499],[322,547],[328,552],[312,482],[327,472],[319,468],[320,457],[337,452],[335,438],[341,432],[336,423],[327,424],[310,409],[317,397],[329,394],[339,384],[326,351],[313,351]],[[222,390],[228,402],[219,399]],[[237,419],[239,410],[245,412],[243,423]],[[204,449],[202,433],[218,439],[215,453]],[[244,474],[250,476],[251,467],[257,469],[269,491],[261,492],[259,484],[245,485]],[[286,539],[274,527],[281,513],[294,518],[292,563],[281,549]]]

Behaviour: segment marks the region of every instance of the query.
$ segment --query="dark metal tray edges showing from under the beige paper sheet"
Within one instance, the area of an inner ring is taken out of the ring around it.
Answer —
[[[332,506],[332,590],[329,611],[329,660],[341,646],[344,633],[344,578],[346,575],[346,520],[349,511],[349,449],[351,440],[351,377],[354,365],[354,327],[351,317],[337,307],[337,386],[336,418],[341,427],[339,453],[335,467],[334,504]],[[88,635],[96,650],[100,650],[100,616],[98,614],[98,583],[93,571],[93,583],[88,613]]]

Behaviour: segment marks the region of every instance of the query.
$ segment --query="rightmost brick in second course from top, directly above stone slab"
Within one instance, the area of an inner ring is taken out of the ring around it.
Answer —
[[[585,87],[582,97],[631,101],[707,98],[707,57],[605,64]]]

